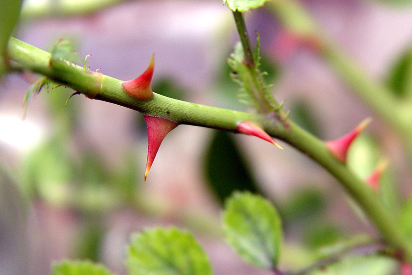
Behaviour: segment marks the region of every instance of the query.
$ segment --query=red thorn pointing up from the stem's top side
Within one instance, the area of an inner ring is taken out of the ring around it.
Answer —
[[[152,77],[155,69],[155,55],[152,55],[147,69],[134,80],[123,81],[122,87],[127,94],[141,100],[147,100],[153,97],[152,91]]]

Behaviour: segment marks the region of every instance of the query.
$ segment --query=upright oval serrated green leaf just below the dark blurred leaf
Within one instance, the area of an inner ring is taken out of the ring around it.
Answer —
[[[223,231],[239,256],[258,267],[273,269],[279,260],[282,222],[263,197],[237,192],[225,203]]]

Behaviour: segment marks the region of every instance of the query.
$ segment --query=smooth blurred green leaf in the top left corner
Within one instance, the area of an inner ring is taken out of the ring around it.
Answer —
[[[17,24],[21,0],[0,1],[0,77],[7,70],[7,44]]]

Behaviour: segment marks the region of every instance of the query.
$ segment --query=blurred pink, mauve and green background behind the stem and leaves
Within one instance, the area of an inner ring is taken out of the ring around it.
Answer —
[[[86,11],[64,8],[68,2],[89,1],[24,1],[15,36],[45,50],[70,38],[80,57],[92,54],[91,70],[121,80],[140,75],[155,53],[154,92],[248,110],[229,78],[227,58],[238,34],[221,0],[101,0],[101,8]],[[412,7],[373,0],[301,4],[380,81],[410,48]],[[385,156],[388,200],[410,194],[410,157],[396,133],[271,9],[245,18],[252,42],[260,34],[266,81],[292,119],[328,140],[371,116],[351,149],[351,165],[365,178]],[[335,179],[283,142],[279,150],[254,137],[182,125],[165,138],[144,182],[147,130],[140,113],[81,95],[65,106],[73,90],[50,87],[30,101],[22,120],[23,97],[37,78],[9,74],[0,83],[0,275],[48,274],[50,263],[67,258],[102,262],[123,275],[130,235],[167,225],[193,232],[217,275],[270,274],[244,264],[222,241],[222,203],[236,189],[263,194],[280,211],[284,268],[305,265],[322,245],[375,234]],[[393,262],[381,264],[393,272]]]

